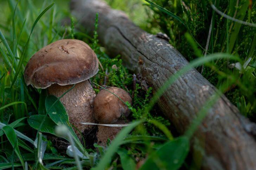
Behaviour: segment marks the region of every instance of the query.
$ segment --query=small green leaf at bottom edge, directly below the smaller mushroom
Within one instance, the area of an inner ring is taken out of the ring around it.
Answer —
[[[121,159],[122,168],[124,170],[136,169],[136,164],[134,159],[128,154],[128,151],[120,148],[117,151],[118,155]]]

